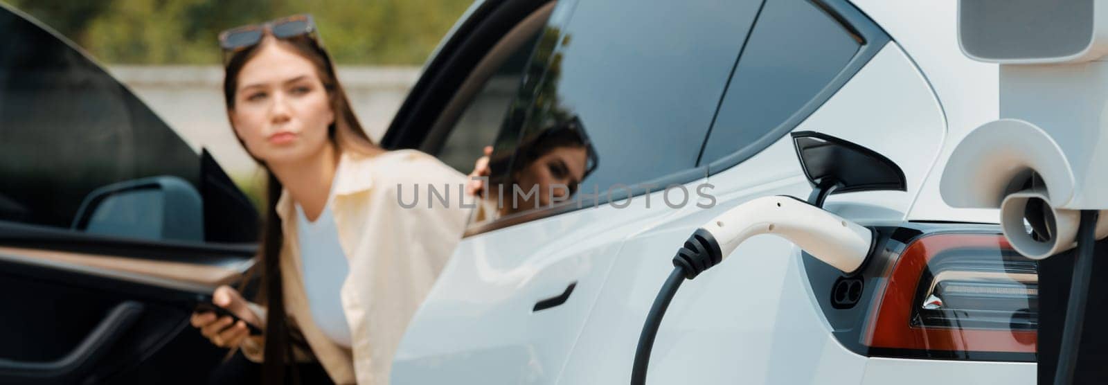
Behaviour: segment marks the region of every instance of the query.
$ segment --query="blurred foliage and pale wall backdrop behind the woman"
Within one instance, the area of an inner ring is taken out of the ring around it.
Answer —
[[[339,66],[339,79],[358,117],[370,137],[379,139],[419,77],[424,60],[472,3],[472,0],[3,1],[88,51],[194,149],[207,148],[254,199],[260,195],[257,166],[235,141],[219,91],[223,67],[216,35],[220,31],[311,13],[325,46]],[[505,87],[505,97],[510,91]],[[480,144],[475,145],[480,148]]]

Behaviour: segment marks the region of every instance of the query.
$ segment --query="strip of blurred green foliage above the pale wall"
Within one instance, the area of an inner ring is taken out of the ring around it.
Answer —
[[[225,29],[311,13],[336,62],[422,64],[472,0],[0,0],[112,64],[218,64]]]

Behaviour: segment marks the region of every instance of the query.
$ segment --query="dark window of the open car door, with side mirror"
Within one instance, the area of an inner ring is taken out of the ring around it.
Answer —
[[[254,241],[256,212],[218,166],[82,52],[4,8],[0,42],[0,223]]]

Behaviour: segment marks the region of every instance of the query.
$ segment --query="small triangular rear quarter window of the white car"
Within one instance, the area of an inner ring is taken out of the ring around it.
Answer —
[[[741,150],[828,85],[860,42],[809,0],[768,0],[742,50],[701,164]]]

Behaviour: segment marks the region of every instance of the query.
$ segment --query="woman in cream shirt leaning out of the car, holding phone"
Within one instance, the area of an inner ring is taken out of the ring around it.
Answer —
[[[461,205],[402,208],[398,188],[465,176],[429,155],[373,145],[309,15],[229,30],[220,44],[227,116],[268,173],[261,293],[255,305],[220,287],[213,302],[242,321],[203,312],[192,323],[261,362],[266,384],[312,358],[336,383],[386,384],[469,215]],[[245,322],[264,336],[248,335]]]

